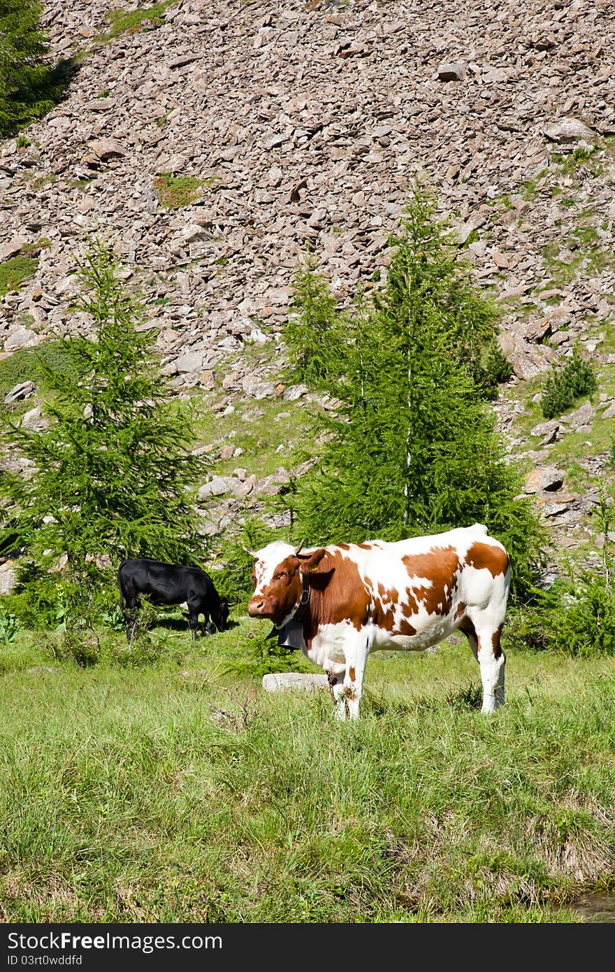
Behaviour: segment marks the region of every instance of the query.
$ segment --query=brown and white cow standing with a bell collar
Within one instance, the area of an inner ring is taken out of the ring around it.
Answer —
[[[480,665],[482,712],[504,703],[499,643],[508,554],[480,523],[388,543],[302,549],[276,540],[256,552],[251,617],[325,669],[335,714],[359,716],[365,663],[383,648],[423,651],[458,629]]]

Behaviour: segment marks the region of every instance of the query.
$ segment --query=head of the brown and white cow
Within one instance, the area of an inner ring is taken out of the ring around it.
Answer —
[[[255,558],[252,576],[255,593],[248,604],[251,617],[266,617],[276,628],[282,628],[299,607],[303,593],[303,575],[315,570],[325,556],[325,549],[299,553],[298,547],[275,540],[261,550],[248,550]]]

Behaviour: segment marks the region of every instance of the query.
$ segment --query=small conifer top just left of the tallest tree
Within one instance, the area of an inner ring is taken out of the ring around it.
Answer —
[[[284,326],[289,348],[290,381],[323,388],[339,373],[343,347],[343,316],[325,277],[308,256],[294,274],[295,312]]]

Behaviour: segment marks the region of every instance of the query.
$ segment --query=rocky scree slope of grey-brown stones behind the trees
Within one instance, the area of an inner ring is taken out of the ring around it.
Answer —
[[[79,55],[79,69],[25,139],[0,144],[0,269],[38,259],[0,297],[2,357],[85,331],[66,305],[73,258],[86,233],[109,238],[178,395],[200,395],[221,420],[202,447],[227,474],[199,494],[216,533],[288,478],[262,465],[266,432],[252,454],[233,435],[277,418],[271,454],[291,459],[287,423],[305,436],[295,411],[318,405],[279,380],[295,267],[317,255],[342,304],[359,280],[373,286],[421,174],[501,303],[514,375],[495,410],[528,490],[556,547],[594,542],[615,414],[610,0],[157,7],[105,39],[104,0],[47,5],[52,54]],[[599,397],[542,423],[545,370],[578,340]],[[36,392],[14,395],[31,397],[31,423]]]

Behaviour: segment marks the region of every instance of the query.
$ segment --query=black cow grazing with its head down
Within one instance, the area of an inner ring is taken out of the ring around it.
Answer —
[[[205,631],[208,634],[211,631],[210,615],[219,631],[226,627],[228,602],[220,597],[209,574],[197,567],[179,567],[147,558],[122,560],[118,569],[118,584],[128,641],[134,624],[134,610],[139,607],[141,594],[153,605],[181,605],[186,602],[193,639],[197,637],[199,614],[205,618]]]

